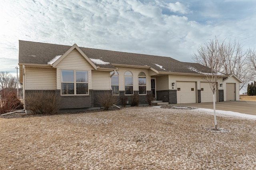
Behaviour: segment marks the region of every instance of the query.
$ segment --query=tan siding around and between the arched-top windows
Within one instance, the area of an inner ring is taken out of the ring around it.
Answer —
[[[124,73],[126,71],[132,72],[133,75],[133,90],[138,91],[139,90],[139,83],[138,83],[138,75],[140,72],[143,72],[146,74],[146,90],[151,90],[151,79],[149,75],[148,69],[137,69],[137,68],[126,68],[126,67],[118,67],[118,75],[119,75],[119,90],[124,91]]]

